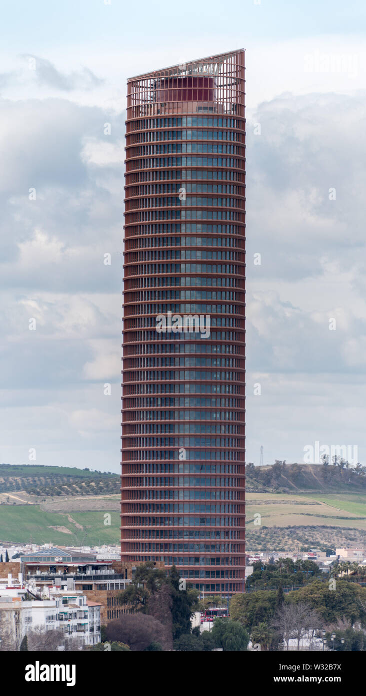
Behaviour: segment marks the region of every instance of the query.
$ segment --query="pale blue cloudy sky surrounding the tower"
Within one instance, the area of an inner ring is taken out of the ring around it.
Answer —
[[[126,78],[244,47],[247,461],[366,464],[365,24],[363,0],[3,3],[0,461],[119,471]]]

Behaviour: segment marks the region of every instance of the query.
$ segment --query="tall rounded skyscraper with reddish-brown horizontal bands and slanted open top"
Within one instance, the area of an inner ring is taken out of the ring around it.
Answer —
[[[122,559],[241,592],[244,51],[128,80]]]

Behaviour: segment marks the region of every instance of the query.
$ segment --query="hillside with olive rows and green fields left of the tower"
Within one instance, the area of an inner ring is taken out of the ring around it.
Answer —
[[[1,464],[0,541],[118,544],[119,489],[120,477],[109,472]]]

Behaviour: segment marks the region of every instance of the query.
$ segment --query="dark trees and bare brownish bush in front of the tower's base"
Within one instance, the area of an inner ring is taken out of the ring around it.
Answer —
[[[219,596],[199,601],[198,591],[185,585],[176,567],[169,576],[147,562],[139,565],[131,585],[119,594],[124,613],[103,628],[102,642],[93,650],[124,644],[131,651],[224,651],[247,650],[249,633],[238,621],[215,619],[212,631],[191,626],[193,612],[222,603]],[[108,643],[106,645],[106,643]],[[117,649],[117,648],[115,648]]]

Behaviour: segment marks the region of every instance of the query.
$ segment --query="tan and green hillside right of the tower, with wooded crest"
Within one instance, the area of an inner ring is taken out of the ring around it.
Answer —
[[[366,545],[366,467],[360,464],[247,464],[246,487],[248,550]]]

